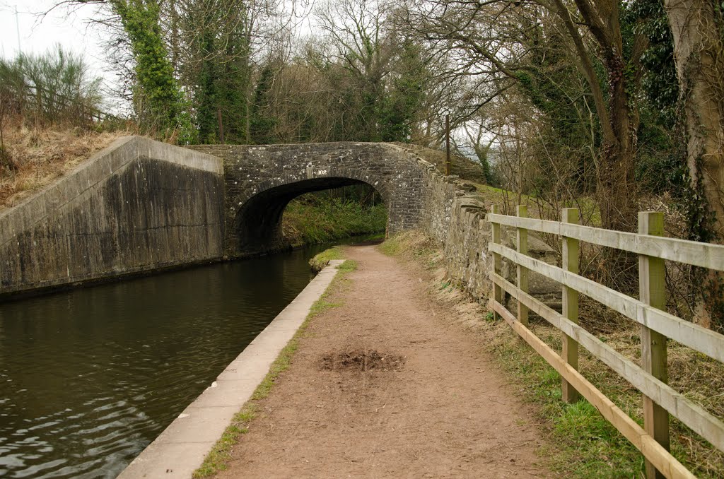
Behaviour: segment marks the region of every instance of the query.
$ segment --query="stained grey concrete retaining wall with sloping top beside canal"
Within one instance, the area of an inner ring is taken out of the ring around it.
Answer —
[[[124,137],[0,213],[0,296],[217,260],[220,158]]]

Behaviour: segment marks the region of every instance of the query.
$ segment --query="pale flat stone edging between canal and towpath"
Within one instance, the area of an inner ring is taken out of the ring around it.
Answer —
[[[234,415],[251,399],[271,363],[327,290],[342,260],[331,260],[264,331],[140,453],[119,479],[191,478]]]

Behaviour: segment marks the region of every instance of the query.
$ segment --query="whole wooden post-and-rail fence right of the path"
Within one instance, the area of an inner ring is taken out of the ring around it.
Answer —
[[[638,234],[581,226],[575,208],[565,208],[561,221],[530,219],[526,216],[526,207],[522,205],[518,206],[518,216],[501,215],[497,206],[493,206],[492,213],[487,215],[492,224],[489,251],[493,255],[494,266],[490,272],[493,282],[491,309],[560,373],[564,401],[573,402],[581,394],[641,451],[646,461],[648,478],[694,478],[668,452],[669,415],[677,417],[721,451],[724,451],[724,423],[668,386],[666,339],[673,339],[724,362],[724,336],[666,313],[664,260],[724,271],[724,246],[662,237],[663,213],[639,213]],[[501,244],[501,226],[517,229],[517,250]],[[527,254],[528,231],[561,237],[561,268]],[[581,241],[639,255],[638,300],[578,275],[578,245]],[[501,276],[502,258],[516,265],[517,285]],[[547,276],[562,285],[563,314],[528,294],[529,271]],[[517,300],[517,315],[505,308],[503,292],[508,292]],[[640,367],[578,326],[579,293],[641,324]],[[560,354],[528,328],[529,311],[563,331]],[[579,345],[641,391],[644,400],[643,428],[578,373]]]

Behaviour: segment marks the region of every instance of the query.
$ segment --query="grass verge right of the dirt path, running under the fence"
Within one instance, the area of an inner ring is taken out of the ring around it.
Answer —
[[[567,478],[644,477],[644,461],[633,444],[585,399],[576,404],[562,402],[560,375],[534,354],[508,323],[494,320],[491,313],[451,284],[445,275],[442,254],[431,239],[419,232],[405,233],[387,239],[379,248],[431,272],[429,290],[435,300],[445,303],[451,318],[457,318],[479,336],[481,348],[492,356],[515,392],[528,404],[536,425],[548,439],[548,445],[540,451],[547,467]],[[562,333],[556,328],[542,319],[531,318],[531,329],[550,347],[560,350]],[[636,324],[599,337],[634,362],[640,362],[641,342]],[[668,359],[673,389],[683,391],[713,415],[724,417],[724,365],[675,342],[669,342]],[[641,393],[582,347],[579,370],[621,410],[643,423]],[[697,477],[724,477],[723,452],[673,417],[670,435],[673,456]]]

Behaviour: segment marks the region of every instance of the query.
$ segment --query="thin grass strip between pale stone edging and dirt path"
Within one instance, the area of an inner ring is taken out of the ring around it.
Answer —
[[[264,380],[256,387],[251,399],[234,415],[232,422],[227,426],[222,437],[219,441],[216,441],[214,447],[211,448],[211,452],[206,455],[203,464],[193,472],[195,479],[209,478],[215,475],[216,472],[227,469],[233,447],[239,442],[243,434],[248,433],[249,423],[256,417],[258,402],[269,396],[269,393],[274,388],[274,384],[277,383],[279,375],[289,369],[292,363],[292,357],[297,349],[299,349],[300,339],[305,336],[309,322],[316,316],[324,313],[324,311],[342,305],[342,302],[332,301],[330,296],[335,292],[339,292],[340,289],[347,284],[349,280],[345,279],[345,276],[351,271],[355,271],[355,269],[357,269],[357,262],[354,260],[346,260],[338,267],[339,272],[337,276],[334,277],[332,283],[327,287],[327,290],[319,297],[319,300],[314,302],[304,323],[302,323],[302,326],[300,326],[294,337],[292,337],[290,342],[279,352],[279,356],[274,360],[274,363],[271,364],[271,368],[269,368],[269,373],[266,374]]]

